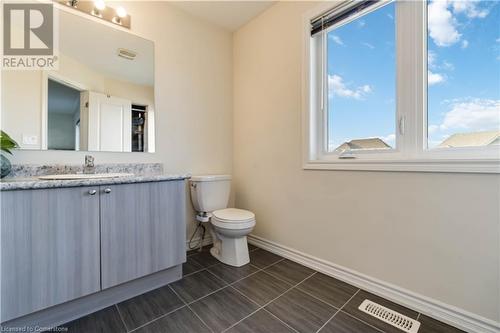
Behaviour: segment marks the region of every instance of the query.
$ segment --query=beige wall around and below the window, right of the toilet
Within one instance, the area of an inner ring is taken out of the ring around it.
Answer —
[[[234,35],[236,206],[257,236],[500,321],[498,175],[302,169],[313,5],[278,3]]]

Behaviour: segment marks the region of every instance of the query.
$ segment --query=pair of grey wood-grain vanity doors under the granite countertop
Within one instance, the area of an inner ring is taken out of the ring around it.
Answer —
[[[185,261],[184,180],[0,195],[2,322]]]

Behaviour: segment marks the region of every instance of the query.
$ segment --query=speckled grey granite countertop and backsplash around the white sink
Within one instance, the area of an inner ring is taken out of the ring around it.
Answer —
[[[61,165],[15,165],[13,176],[0,182],[0,191],[30,190],[58,187],[99,186],[115,184],[146,183],[168,180],[182,180],[191,177],[189,173],[165,174],[159,163],[106,164],[96,166],[96,173],[131,173],[132,176],[94,179],[45,180],[38,176],[80,173],[81,167]]]

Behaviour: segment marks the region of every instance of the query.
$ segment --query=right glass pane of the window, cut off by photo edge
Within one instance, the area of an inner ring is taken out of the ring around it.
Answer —
[[[496,1],[428,3],[430,149],[500,145],[498,22]]]

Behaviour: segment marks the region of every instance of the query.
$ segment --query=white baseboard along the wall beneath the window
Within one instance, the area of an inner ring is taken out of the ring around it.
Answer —
[[[306,253],[302,253],[255,235],[249,235],[248,242],[312,268],[318,272],[335,277],[358,288],[387,298],[395,303],[404,305],[436,320],[460,328],[464,331],[471,333],[500,332],[500,323],[491,319],[484,318],[452,305],[419,295],[407,289],[364,275],[349,268],[313,257]]]

